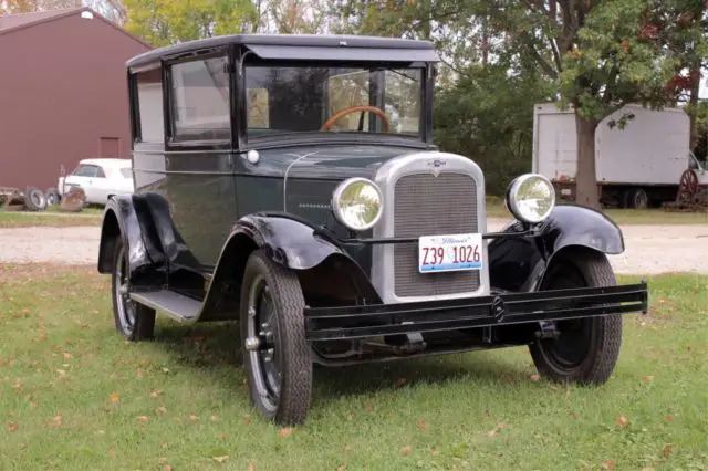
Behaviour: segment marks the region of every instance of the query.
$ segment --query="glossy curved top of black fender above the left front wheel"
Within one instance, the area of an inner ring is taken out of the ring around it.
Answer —
[[[312,269],[335,253],[348,258],[335,243],[315,234],[312,226],[287,216],[246,216],[237,221],[229,239],[240,236],[248,236],[275,263],[292,270]]]

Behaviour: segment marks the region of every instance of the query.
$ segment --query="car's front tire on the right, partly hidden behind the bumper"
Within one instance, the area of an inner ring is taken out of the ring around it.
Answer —
[[[542,290],[612,286],[614,272],[603,253],[570,250],[553,261]],[[558,338],[539,339],[529,349],[542,376],[556,383],[600,385],[607,381],[622,345],[622,316],[559,321]]]

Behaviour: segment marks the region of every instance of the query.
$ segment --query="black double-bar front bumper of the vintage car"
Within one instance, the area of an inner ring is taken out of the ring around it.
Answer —
[[[308,307],[308,341],[336,341],[425,332],[646,313],[646,282],[621,286],[504,293],[458,300]]]

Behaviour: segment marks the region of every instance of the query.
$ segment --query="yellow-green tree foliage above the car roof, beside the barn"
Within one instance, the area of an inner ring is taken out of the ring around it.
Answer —
[[[250,0],[124,0],[125,28],[154,46],[250,31]]]

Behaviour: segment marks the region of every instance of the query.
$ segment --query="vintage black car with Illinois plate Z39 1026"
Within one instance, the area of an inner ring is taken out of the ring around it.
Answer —
[[[528,345],[556,381],[602,384],[644,282],[600,212],[509,185],[516,218],[487,231],[475,156],[433,144],[429,42],[229,35],[127,63],[136,191],[108,202],[98,271],[115,325],[153,336],[237,320],[250,397],[305,419],[313,365]]]

